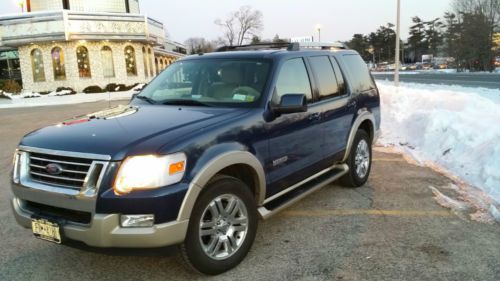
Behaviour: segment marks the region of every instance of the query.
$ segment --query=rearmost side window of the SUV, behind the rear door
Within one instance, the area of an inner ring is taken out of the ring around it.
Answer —
[[[345,55],[343,57],[351,77],[351,87],[354,93],[364,92],[375,88],[368,72],[368,66],[359,55]]]

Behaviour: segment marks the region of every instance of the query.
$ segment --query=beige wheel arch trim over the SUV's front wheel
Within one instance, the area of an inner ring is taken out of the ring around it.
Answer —
[[[238,167],[242,167],[246,172],[251,172],[251,176],[247,180],[251,179],[254,184],[252,191],[257,205],[262,204],[266,196],[266,179],[262,164],[248,151],[228,151],[213,157],[198,170],[189,184],[177,220],[182,221],[190,218],[200,192],[215,175]]]

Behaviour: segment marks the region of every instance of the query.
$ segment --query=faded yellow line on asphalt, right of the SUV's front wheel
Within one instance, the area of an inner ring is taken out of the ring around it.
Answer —
[[[393,216],[393,217],[449,217],[452,213],[442,211],[419,211],[419,210],[375,210],[375,209],[353,209],[353,210],[296,210],[282,213],[289,217],[338,217],[338,216]]]

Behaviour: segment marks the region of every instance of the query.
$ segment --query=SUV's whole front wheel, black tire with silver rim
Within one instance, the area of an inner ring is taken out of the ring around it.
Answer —
[[[238,204],[231,205],[230,202]],[[222,208],[217,203],[221,203]],[[217,213],[220,216],[214,215]],[[245,217],[246,224],[242,223]],[[257,220],[257,206],[249,187],[239,179],[216,176],[203,189],[193,207],[186,239],[180,245],[185,264],[194,271],[208,275],[217,275],[234,268],[252,247]],[[200,236],[202,222],[206,226],[203,227],[204,236]],[[241,231],[243,229],[246,231]]]

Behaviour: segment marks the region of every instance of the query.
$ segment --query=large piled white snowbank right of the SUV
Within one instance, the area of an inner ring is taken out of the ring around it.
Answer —
[[[382,136],[421,164],[442,167],[500,206],[500,90],[377,81]],[[500,219],[499,217],[496,217]]]

